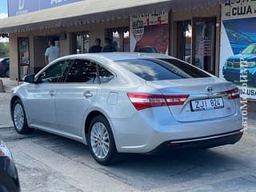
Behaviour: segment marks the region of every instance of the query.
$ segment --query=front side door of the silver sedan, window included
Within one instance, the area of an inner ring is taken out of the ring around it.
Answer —
[[[43,130],[58,130],[55,115],[55,101],[58,88],[70,67],[70,60],[62,60],[50,65],[38,74],[36,83],[26,90],[27,115],[30,126]]]

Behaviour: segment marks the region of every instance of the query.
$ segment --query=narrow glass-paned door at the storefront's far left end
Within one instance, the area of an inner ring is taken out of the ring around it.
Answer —
[[[18,80],[30,73],[29,40],[29,38],[18,38]]]

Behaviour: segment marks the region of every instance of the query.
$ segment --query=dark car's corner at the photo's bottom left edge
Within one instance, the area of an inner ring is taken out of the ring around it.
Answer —
[[[20,191],[18,171],[10,150],[0,140],[0,192]]]

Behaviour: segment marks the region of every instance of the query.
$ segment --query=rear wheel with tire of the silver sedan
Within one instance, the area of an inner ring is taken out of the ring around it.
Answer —
[[[107,119],[98,115],[92,119],[89,126],[88,144],[90,153],[99,164],[107,166],[117,160],[114,136]]]

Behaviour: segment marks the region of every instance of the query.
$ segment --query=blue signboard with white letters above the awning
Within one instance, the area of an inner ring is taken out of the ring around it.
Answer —
[[[8,0],[9,17],[85,0]]]

